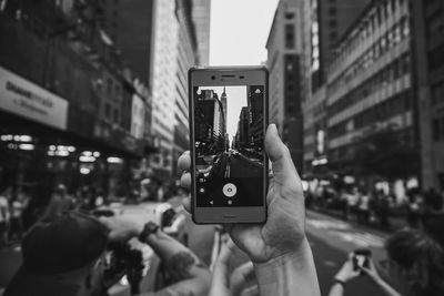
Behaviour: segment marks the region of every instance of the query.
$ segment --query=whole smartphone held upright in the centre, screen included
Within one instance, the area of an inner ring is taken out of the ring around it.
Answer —
[[[194,223],[265,222],[266,68],[192,68],[189,100]]]

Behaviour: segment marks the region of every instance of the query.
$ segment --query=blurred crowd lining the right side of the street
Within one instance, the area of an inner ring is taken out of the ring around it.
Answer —
[[[444,215],[444,192],[434,188],[421,192],[411,188],[405,197],[396,201],[394,194],[383,190],[369,191],[359,186],[345,186],[335,190],[333,186],[319,186],[314,192],[307,191],[307,207],[336,210],[347,221],[359,224],[377,225],[390,228],[391,217],[402,217],[413,228],[426,227],[427,221],[436,215]]]

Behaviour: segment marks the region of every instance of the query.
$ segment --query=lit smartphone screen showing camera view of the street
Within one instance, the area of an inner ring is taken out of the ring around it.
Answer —
[[[264,86],[195,86],[198,206],[262,206]]]

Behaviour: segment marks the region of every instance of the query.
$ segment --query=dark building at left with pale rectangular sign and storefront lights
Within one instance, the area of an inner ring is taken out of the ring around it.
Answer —
[[[148,146],[131,134],[133,75],[101,11],[97,1],[3,3],[1,187],[26,186],[42,203],[58,183],[108,196],[128,191],[131,164]]]

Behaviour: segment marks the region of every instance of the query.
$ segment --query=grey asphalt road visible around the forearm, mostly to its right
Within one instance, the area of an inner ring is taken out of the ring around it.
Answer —
[[[376,266],[381,259],[385,258],[383,251],[383,243],[387,236],[385,233],[314,212],[307,213],[306,229],[322,295],[329,294],[331,280],[347,258],[350,252],[356,248],[370,248]],[[202,259],[209,264],[213,242],[213,227],[193,225],[190,231],[192,249],[199,255],[202,254]],[[234,257],[231,259],[231,268],[246,259],[246,256],[240,249],[236,249]],[[381,275],[384,277],[383,272],[381,272]],[[369,278],[362,277],[347,284],[345,296],[347,295],[373,296],[381,295],[381,290]]]

